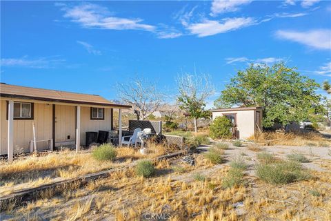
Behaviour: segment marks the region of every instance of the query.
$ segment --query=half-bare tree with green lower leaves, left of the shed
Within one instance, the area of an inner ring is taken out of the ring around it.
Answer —
[[[185,73],[177,77],[179,108],[194,117],[194,131],[197,132],[197,118],[205,115],[206,99],[214,94],[209,75]]]

